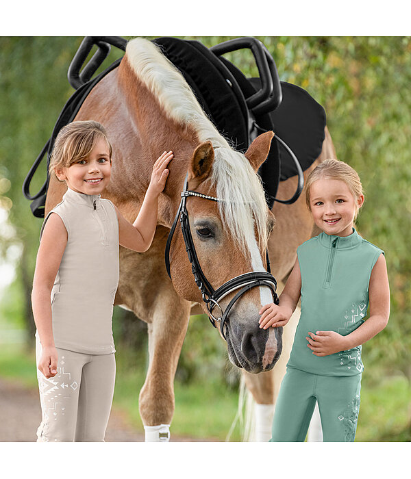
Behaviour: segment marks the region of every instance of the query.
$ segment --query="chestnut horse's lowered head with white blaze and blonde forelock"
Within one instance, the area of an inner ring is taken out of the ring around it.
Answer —
[[[272,132],[260,135],[244,155],[224,145],[213,146],[211,141],[201,142],[192,153],[187,182],[192,196],[186,198],[194,249],[190,255],[197,257],[213,289],[234,277],[266,270],[266,245],[275,220],[256,172],[269,153],[272,138]],[[199,302],[210,315],[198,281],[197,285],[193,281],[187,248],[178,231],[171,248],[173,285],[180,296]],[[223,314],[237,293],[238,289],[227,292],[215,314]],[[248,372],[270,370],[281,354],[282,328],[262,330],[258,324],[258,311],[269,302],[273,302],[269,287],[252,287],[234,302],[220,327],[230,361]]]

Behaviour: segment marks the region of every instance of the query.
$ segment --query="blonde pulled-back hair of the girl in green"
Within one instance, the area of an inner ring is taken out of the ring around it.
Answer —
[[[357,199],[359,196],[364,194],[360,177],[354,168],[347,165],[347,163],[344,161],[340,161],[339,159],[325,159],[325,161],[312,170],[306,181],[306,205],[310,211],[310,188],[312,183],[319,179],[338,179],[344,181],[349,187],[354,199]],[[359,209],[360,208],[357,205],[357,211],[354,220],[356,220],[358,216]]]

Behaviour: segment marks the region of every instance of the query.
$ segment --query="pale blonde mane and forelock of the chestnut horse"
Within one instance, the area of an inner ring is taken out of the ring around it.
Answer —
[[[267,207],[260,177],[248,159],[235,151],[203,112],[179,70],[153,42],[134,38],[127,43],[126,56],[138,79],[155,95],[170,118],[195,129],[200,142],[210,141],[214,163],[210,180],[216,188],[221,218],[243,253],[267,242]],[[256,227],[256,232],[254,231]]]

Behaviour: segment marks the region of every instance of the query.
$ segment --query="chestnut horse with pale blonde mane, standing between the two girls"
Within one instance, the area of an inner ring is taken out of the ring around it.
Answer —
[[[140,416],[146,441],[169,441],[175,409],[173,382],[190,311],[201,305],[209,315],[179,228],[170,245],[171,280],[164,265],[164,248],[182,199],[184,178],[187,175],[187,189],[197,192],[186,198],[192,242],[214,288],[234,276],[264,272],[267,246],[275,276],[286,278],[297,246],[312,233],[312,220],[302,200],[275,205],[276,221],[266,206],[256,172],[269,153],[273,132],[258,136],[244,155],[235,151],[204,114],[184,77],[149,40],[128,42],[119,67],[92,89],[75,120],[97,120],[107,129],[113,147],[112,179],[102,196],[112,200],[129,222],[134,222],[140,209],[155,159],[163,151],[174,153],[159,198],[153,243],[146,253],[120,248],[114,300],[114,305],[133,311],[148,324],[149,368],[139,396]],[[329,135],[325,144],[332,145]],[[324,158],[329,157],[325,150]],[[282,182],[279,193],[292,193],[293,182]],[[46,215],[65,191],[64,183],[51,179]],[[228,292],[219,307],[227,308],[237,292]],[[263,409],[273,404],[275,387],[269,371],[282,351],[282,328],[262,330],[258,325],[258,311],[268,302],[273,302],[273,288],[248,289],[232,305],[220,329],[229,360],[246,372],[247,387]],[[271,424],[271,418],[267,420]]]

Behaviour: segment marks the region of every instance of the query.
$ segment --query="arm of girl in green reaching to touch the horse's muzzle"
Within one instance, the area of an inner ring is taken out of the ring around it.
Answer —
[[[300,296],[301,271],[297,257],[294,268],[292,268],[292,272],[290,276],[288,276],[284,290],[282,294],[279,295],[279,305],[277,306],[271,302],[260,309],[260,328],[266,329],[270,326],[273,326],[273,328],[285,326],[290,320],[292,313],[294,313]]]

